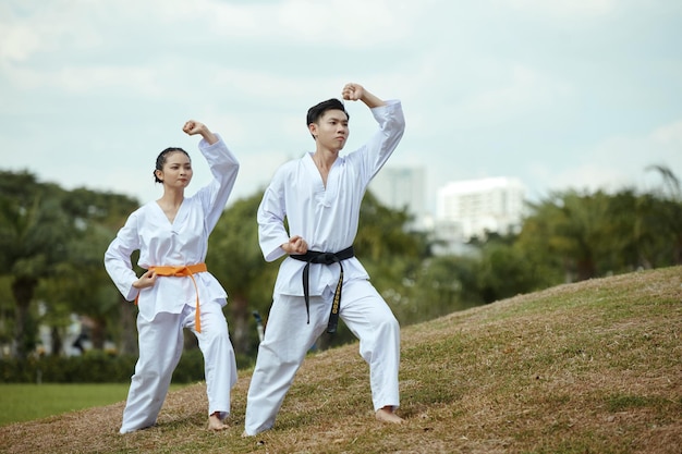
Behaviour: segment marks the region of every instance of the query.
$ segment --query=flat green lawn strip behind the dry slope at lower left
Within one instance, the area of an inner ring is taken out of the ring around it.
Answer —
[[[125,401],[129,383],[0,384],[0,426]],[[171,391],[183,388],[172,384]]]

